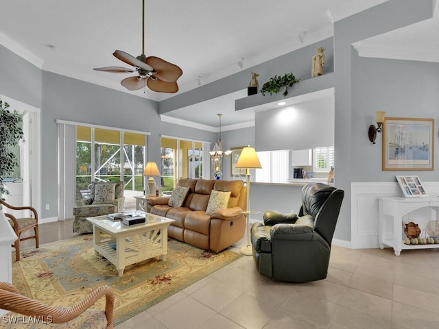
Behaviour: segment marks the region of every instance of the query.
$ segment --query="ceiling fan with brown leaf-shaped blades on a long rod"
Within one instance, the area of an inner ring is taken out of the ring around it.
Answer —
[[[113,55],[134,66],[134,69],[126,69],[120,66],[96,67],[95,71],[112,73],[139,73],[139,76],[126,77],[121,85],[128,90],[138,90],[148,86],[158,93],[176,93],[178,91],[177,80],[183,74],[182,69],[176,64],[162,60],[156,56],[145,56],[145,0],[142,7],[142,54],[134,57],[125,51],[116,50]]]

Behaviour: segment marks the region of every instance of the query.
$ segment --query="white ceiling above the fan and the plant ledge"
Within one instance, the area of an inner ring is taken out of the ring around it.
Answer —
[[[178,80],[178,93],[184,93],[328,38],[333,35],[333,21],[383,2],[145,0],[145,54],[180,66],[183,75]],[[100,66],[129,67],[112,56],[116,49],[132,56],[141,54],[141,8],[141,0],[1,0],[0,43],[45,71],[160,101],[173,95],[130,92],[119,83],[129,73],[93,71]],[[389,38],[401,47],[407,42],[418,44],[420,34],[418,30],[407,33],[406,29],[388,38],[365,40],[357,47],[367,49],[367,42],[374,48],[391,45]],[[305,35],[303,40],[301,35]],[[234,111],[233,100],[245,97],[245,93],[240,90],[167,115],[218,127],[217,113],[222,112],[222,125],[242,123],[254,119],[248,111]]]

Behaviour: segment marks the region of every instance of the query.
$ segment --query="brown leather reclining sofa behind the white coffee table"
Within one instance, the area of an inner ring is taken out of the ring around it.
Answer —
[[[189,192],[181,207],[168,205],[169,197],[147,199],[147,212],[174,219],[168,236],[196,247],[221,252],[244,237],[246,217],[246,186],[240,180],[181,179],[178,186]],[[211,191],[230,191],[228,208],[206,215]]]

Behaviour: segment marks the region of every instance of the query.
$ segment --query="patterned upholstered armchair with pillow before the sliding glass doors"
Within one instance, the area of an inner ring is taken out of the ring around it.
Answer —
[[[108,215],[123,211],[124,182],[92,182],[90,197],[84,199],[76,193],[76,206],[73,208],[73,233],[93,233],[93,225],[87,217]]]

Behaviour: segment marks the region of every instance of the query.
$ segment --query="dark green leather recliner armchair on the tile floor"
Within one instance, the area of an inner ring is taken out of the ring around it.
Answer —
[[[302,188],[300,212],[268,210],[254,223],[251,243],[257,271],[274,280],[309,282],[327,277],[331,242],[344,191],[323,183]]]

